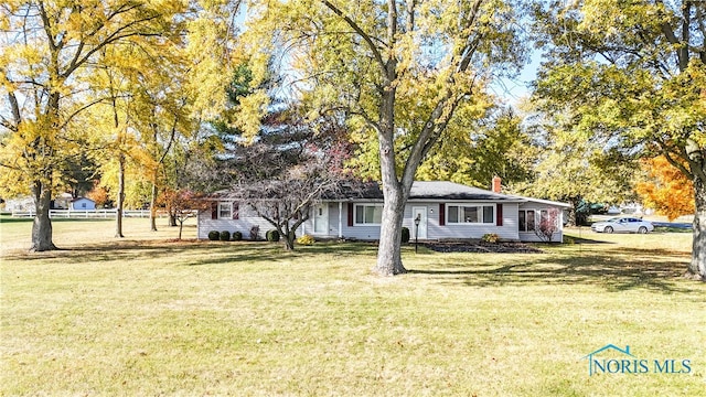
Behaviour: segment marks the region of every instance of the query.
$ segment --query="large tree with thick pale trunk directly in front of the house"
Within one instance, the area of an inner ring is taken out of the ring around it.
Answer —
[[[248,30],[275,42],[321,112],[377,142],[384,206],[375,271],[405,272],[404,208],[417,169],[464,103],[522,54],[503,0],[261,1]],[[267,10],[264,8],[268,7]],[[398,149],[397,141],[407,142]],[[399,168],[398,168],[399,167]]]

